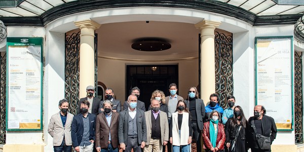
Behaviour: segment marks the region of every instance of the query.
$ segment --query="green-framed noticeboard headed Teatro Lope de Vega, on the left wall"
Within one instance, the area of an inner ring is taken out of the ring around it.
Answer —
[[[43,129],[43,37],[7,38],[6,130]]]

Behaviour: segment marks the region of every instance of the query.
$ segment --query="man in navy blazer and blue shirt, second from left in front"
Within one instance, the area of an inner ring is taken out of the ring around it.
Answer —
[[[96,116],[89,113],[90,102],[81,102],[81,113],[74,116],[71,127],[72,142],[76,151],[93,151]]]

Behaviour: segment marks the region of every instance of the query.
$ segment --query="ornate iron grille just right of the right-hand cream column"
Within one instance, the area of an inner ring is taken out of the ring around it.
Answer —
[[[219,104],[226,107],[226,97],[233,95],[233,39],[232,35],[214,32],[215,92]]]

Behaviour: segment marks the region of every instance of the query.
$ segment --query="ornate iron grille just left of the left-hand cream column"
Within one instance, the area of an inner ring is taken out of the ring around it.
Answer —
[[[70,103],[69,111],[77,114],[79,101],[79,59],[80,59],[80,31],[65,34],[65,87],[64,96]]]

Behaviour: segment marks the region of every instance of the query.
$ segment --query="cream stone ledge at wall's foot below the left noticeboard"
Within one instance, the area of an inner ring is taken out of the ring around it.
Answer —
[[[5,144],[3,145],[4,152],[44,152],[43,144]]]

